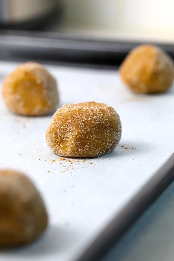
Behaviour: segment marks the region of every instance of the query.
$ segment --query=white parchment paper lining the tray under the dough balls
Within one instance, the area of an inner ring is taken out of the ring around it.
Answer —
[[[0,62],[1,80],[16,66]],[[116,71],[48,69],[59,81],[60,105],[95,100],[113,106],[122,122],[122,138],[109,155],[71,163],[45,143],[51,116],[16,116],[0,102],[0,165],[30,176],[50,215],[42,238],[1,252],[1,260],[73,260],[173,152],[173,88],[140,96],[121,84]]]

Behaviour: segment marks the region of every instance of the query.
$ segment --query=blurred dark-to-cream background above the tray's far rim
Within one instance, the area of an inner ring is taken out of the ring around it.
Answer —
[[[174,41],[172,0],[0,0],[1,28]]]

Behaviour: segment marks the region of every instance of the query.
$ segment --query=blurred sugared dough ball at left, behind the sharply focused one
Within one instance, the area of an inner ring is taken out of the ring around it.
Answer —
[[[49,114],[58,104],[55,78],[40,64],[23,63],[3,82],[2,96],[8,109],[16,114]]]

